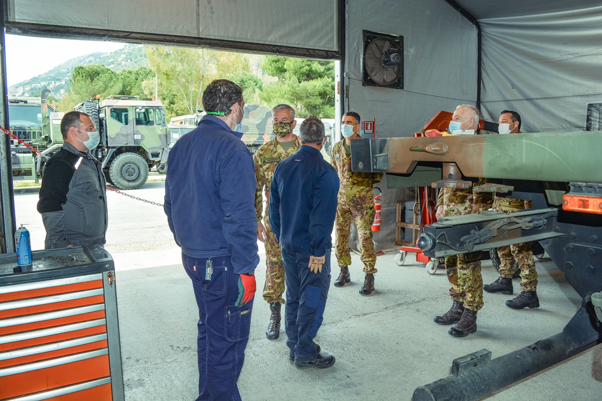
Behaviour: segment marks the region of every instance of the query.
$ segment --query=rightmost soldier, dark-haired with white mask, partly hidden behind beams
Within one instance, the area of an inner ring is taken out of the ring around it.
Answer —
[[[501,112],[498,131],[505,133],[520,133],[521,116],[515,111],[504,110]],[[514,213],[523,209],[530,209],[529,200],[503,198],[496,196],[493,210],[501,213]],[[535,271],[535,260],[531,250],[531,243],[517,243],[515,245],[501,246],[497,248],[500,257],[500,277],[493,283],[483,286],[486,292],[502,293],[511,295],[514,293],[512,287],[512,275],[514,275],[514,261],[521,269],[521,293],[514,299],[506,301],[507,307],[513,309],[538,308],[539,298],[537,296],[537,272]]]

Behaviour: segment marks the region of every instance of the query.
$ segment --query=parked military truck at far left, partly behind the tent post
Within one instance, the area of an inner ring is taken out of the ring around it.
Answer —
[[[37,150],[11,140],[10,159],[13,180],[38,180],[44,163],[63,145],[61,119],[63,112],[54,111],[46,104],[50,91],[42,97],[8,97],[8,127],[17,138]]]

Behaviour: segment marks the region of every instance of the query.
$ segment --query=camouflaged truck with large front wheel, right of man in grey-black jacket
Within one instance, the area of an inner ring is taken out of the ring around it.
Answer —
[[[107,181],[117,188],[140,188],[152,167],[167,162],[169,136],[160,101],[111,95],[74,109],[90,115],[96,124],[101,142],[92,153],[102,162]]]

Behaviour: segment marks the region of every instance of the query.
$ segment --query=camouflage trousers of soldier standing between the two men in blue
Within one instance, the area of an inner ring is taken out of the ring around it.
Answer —
[[[282,256],[280,254],[280,245],[276,242],[276,236],[270,222],[267,212],[264,217],[265,225],[265,285],[263,296],[268,304],[280,302],[284,304],[284,265],[282,265]]]

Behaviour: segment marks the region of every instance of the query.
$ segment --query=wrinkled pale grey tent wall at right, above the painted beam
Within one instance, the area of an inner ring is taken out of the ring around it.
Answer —
[[[586,104],[602,102],[602,7],[479,23],[484,117],[510,109],[523,132],[584,130]]]

